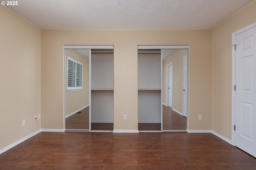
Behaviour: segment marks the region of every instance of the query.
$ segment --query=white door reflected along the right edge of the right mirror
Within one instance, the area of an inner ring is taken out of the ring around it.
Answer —
[[[182,113],[188,117],[188,57],[183,57],[183,106]]]

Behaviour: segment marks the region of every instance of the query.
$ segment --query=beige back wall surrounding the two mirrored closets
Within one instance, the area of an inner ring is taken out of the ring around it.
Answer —
[[[138,45],[189,45],[189,129],[211,129],[210,30],[42,30],[41,36],[42,128],[64,128],[63,45],[114,45],[115,130],[138,130]]]

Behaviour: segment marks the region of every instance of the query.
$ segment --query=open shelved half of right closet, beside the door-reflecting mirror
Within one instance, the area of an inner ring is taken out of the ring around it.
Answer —
[[[138,49],[138,130],[161,131],[161,49]]]

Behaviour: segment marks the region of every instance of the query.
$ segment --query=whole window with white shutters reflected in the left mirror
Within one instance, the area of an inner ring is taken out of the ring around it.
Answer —
[[[83,87],[83,63],[68,56],[68,82],[67,90],[82,89]]]

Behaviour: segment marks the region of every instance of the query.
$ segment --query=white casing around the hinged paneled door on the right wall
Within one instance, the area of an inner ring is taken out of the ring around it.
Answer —
[[[231,103],[231,144],[233,146],[236,146],[236,132],[234,130],[234,125],[236,124],[236,94],[234,90],[234,86],[236,85],[236,51],[234,50],[234,45],[236,45],[236,35],[243,33],[245,31],[248,31],[249,29],[252,29],[256,27],[256,22],[239,29],[238,31],[235,31],[232,33],[232,103]]]

